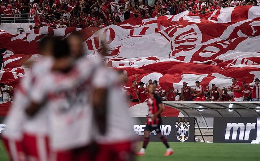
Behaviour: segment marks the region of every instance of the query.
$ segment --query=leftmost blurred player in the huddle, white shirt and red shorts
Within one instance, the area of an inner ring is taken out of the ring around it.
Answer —
[[[4,143],[11,160],[28,160],[38,159],[47,160],[48,147],[46,138],[46,124],[42,122],[42,118],[37,121],[27,118],[25,115],[25,108],[30,104],[30,90],[34,87],[35,82],[41,79],[50,70],[52,64],[53,54],[53,38],[44,37],[40,45],[40,54],[44,55],[38,61],[41,63],[34,63],[31,73],[22,78],[20,85],[15,93],[15,103],[5,120],[7,129],[3,133]],[[40,131],[38,129],[40,128]],[[36,131],[38,131],[36,133]],[[28,148],[28,142],[24,141],[25,136],[31,138],[31,148]],[[41,142],[41,144],[37,144]],[[26,143],[26,145],[24,145]],[[41,152],[39,151],[41,150]]]

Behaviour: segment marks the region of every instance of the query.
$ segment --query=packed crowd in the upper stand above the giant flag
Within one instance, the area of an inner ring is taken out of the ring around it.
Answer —
[[[18,17],[20,13],[33,16],[35,25],[28,30],[41,26],[103,28],[131,17],[147,19],[186,10],[205,14],[219,8],[245,5],[260,5],[260,0],[2,0],[0,15],[4,15],[2,19]]]

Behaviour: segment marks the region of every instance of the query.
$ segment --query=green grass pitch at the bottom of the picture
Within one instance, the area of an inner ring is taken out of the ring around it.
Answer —
[[[150,142],[145,156],[137,161],[259,161],[260,145],[244,143],[180,143],[170,142],[174,154],[163,156],[166,148],[161,142]],[[141,147],[141,143],[140,143]],[[0,143],[0,161],[8,157]]]

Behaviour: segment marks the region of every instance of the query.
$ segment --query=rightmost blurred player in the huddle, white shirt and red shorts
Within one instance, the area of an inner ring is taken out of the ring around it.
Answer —
[[[100,65],[93,77],[93,110],[98,143],[96,161],[134,160],[133,118],[121,89],[126,75]]]

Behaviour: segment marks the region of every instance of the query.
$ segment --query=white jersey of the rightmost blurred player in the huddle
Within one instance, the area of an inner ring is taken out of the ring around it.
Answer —
[[[106,88],[107,91],[107,131],[105,135],[96,134],[99,144],[132,141],[134,139],[133,118],[128,112],[125,93],[121,89],[118,73],[105,66],[99,67],[93,77],[94,88]]]

